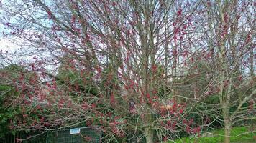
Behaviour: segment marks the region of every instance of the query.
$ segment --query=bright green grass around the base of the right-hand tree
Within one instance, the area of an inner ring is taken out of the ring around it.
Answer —
[[[256,142],[256,133],[246,133],[248,130],[245,127],[234,127],[231,132],[230,141],[232,143],[254,143]],[[177,143],[221,143],[224,142],[224,129],[214,130],[211,133],[214,137],[184,137],[175,140]],[[244,134],[246,133],[246,134]]]

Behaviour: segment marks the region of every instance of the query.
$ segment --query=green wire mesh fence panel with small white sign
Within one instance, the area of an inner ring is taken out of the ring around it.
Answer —
[[[47,143],[101,143],[101,129],[98,127],[80,127],[47,132]]]

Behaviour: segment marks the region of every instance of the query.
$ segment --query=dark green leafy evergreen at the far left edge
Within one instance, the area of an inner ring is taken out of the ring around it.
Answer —
[[[13,122],[15,122],[17,118],[22,118],[24,108],[14,106],[14,101],[19,96],[19,92],[12,82],[13,80],[19,78],[19,72],[22,72],[22,70],[22,67],[17,65],[4,66],[0,69],[1,142],[12,142],[12,139],[14,139],[15,142],[15,135],[21,135],[19,134],[18,130],[14,130]]]

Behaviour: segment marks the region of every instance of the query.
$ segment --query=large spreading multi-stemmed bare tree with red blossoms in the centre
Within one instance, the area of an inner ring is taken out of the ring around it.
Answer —
[[[43,80],[22,87],[31,91],[31,98],[20,100],[31,102],[27,109],[34,109],[32,102],[38,109],[47,104],[50,108],[42,112],[47,126],[71,126],[86,119],[111,131],[106,134],[109,140],[129,130],[142,133],[147,142],[153,142],[153,132],[165,140],[184,127],[185,104],[172,99],[171,83],[183,76],[178,70],[186,69],[183,61],[189,55],[180,55],[193,49],[192,15],[200,1],[12,2],[5,5],[11,20],[4,24],[24,39],[21,45],[29,54],[49,55],[42,60],[35,56],[35,63],[29,63],[37,80]],[[67,75],[58,85],[58,76],[45,66],[60,63],[76,80]],[[45,83],[46,77],[52,81]],[[55,115],[47,114],[52,112]],[[196,129],[194,133],[200,131]]]

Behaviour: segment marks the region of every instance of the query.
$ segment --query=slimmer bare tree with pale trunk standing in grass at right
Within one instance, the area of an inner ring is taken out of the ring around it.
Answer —
[[[255,28],[252,28],[255,27],[255,19],[252,19],[255,8],[252,5],[251,1],[204,2],[203,40],[211,54],[211,73],[217,74],[209,90],[219,96],[227,143],[234,124],[254,118],[250,114],[255,112],[256,89],[248,76],[248,71],[253,75],[254,70],[251,46],[255,36]],[[249,102],[251,105],[245,106]]]

